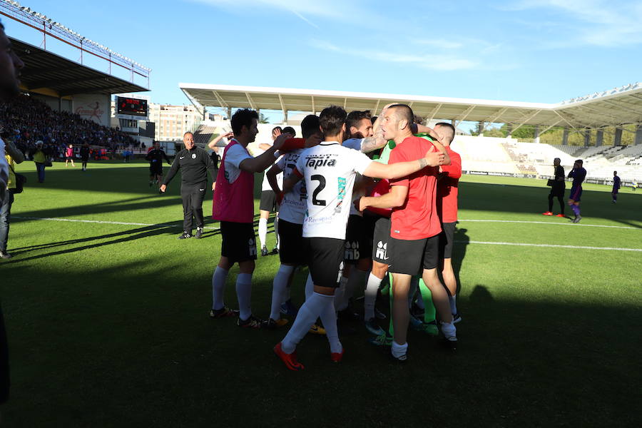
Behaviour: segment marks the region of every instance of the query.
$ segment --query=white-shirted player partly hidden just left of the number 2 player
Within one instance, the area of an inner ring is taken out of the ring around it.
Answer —
[[[306,116],[301,122],[301,132],[305,138],[305,147],[316,146],[321,142],[321,131],[319,118],[315,115]],[[281,265],[274,277],[272,288],[272,307],[270,319],[267,320],[268,328],[281,327],[287,324],[287,320],[280,317],[281,304],[286,295],[289,295],[290,282],[297,266],[305,265],[305,257],[302,252],[303,217],[305,215],[307,192],[305,182],[299,181],[289,192],[282,193],[277,175],[292,174],[296,168],[297,160],[305,148],[297,148],[285,153],[270,170],[265,173],[272,189],[277,195],[277,202],[280,202],[279,211],[279,256]],[[282,200],[280,199],[282,195]],[[290,302],[292,305],[292,302]],[[293,305],[292,305],[293,306]],[[294,307],[295,310],[295,307]],[[296,316],[296,312],[293,314]],[[314,327],[312,327],[314,329]],[[314,332],[320,331],[319,327]],[[325,331],[325,330],[324,330]]]

